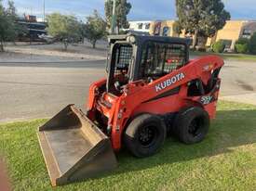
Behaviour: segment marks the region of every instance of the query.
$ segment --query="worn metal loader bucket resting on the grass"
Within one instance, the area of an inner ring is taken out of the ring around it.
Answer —
[[[95,177],[117,166],[109,138],[74,105],[39,127],[38,138],[53,186]]]

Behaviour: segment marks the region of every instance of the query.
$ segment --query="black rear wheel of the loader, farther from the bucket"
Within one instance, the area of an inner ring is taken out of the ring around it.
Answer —
[[[203,108],[183,108],[174,121],[174,134],[184,144],[201,142],[209,132],[209,114]]]

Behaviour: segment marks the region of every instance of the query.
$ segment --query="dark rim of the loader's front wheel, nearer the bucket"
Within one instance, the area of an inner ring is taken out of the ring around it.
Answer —
[[[141,127],[139,132],[139,142],[143,147],[150,147],[155,144],[155,138],[157,136],[155,126]]]

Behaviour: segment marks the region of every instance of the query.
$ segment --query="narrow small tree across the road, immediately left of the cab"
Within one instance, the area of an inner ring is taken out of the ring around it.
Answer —
[[[95,48],[96,42],[106,34],[106,22],[101,18],[97,10],[94,10],[93,14],[87,19],[83,33],[92,47]]]

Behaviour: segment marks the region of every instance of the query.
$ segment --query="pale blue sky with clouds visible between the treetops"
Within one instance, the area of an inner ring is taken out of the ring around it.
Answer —
[[[256,0],[222,0],[232,19],[256,20]],[[7,4],[7,0],[3,0]],[[44,0],[14,0],[20,15],[43,16]],[[132,9],[129,20],[175,19],[175,0],[128,0]],[[104,16],[104,0],[45,0],[46,14],[60,12],[86,19],[94,9]]]

